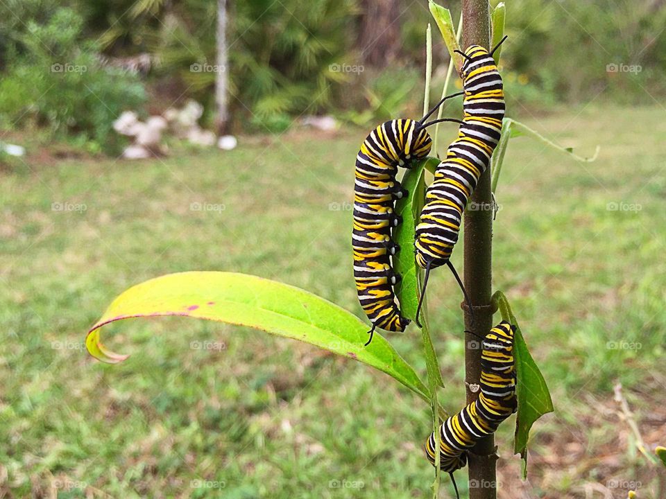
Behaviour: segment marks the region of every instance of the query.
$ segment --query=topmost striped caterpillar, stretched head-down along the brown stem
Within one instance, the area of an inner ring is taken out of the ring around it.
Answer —
[[[416,227],[416,263],[425,268],[416,320],[432,268],[448,265],[463,290],[473,321],[473,310],[463,283],[450,262],[458,241],[463,211],[470,195],[490,162],[499,141],[504,118],[502,77],[497,71],[493,53],[506,40],[502,38],[493,51],[472,45],[463,53],[463,123],[456,139],[437,166],[434,182],[428,186],[425,206]]]

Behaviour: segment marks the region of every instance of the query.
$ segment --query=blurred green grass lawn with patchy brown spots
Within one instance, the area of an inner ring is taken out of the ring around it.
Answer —
[[[582,155],[597,144],[601,154],[578,164],[529,139],[509,144],[493,281],[520,319],[556,414],[535,426],[524,485],[513,418],[500,428],[499,497],[524,489],[583,498],[592,483],[634,480],[640,499],[658,498],[654,468],[614,413],[613,384],[622,381],[647,444],[666,444],[663,113],[587,109],[524,121]],[[443,131],[441,143],[454,130]],[[133,353],[121,365],[83,351],[85,331],[119,292],[182,270],[278,279],[361,315],[350,203],[363,137],[288,134],[243,139],[228,153],[3,173],[0,496],[427,497],[427,405],[356,362],[183,318],[110,326],[112,349]],[[460,299],[447,271],[433,274],[441,400],[452,411],[464,397]],[[223,349],[190,347],[204,340]],[[425,373],[416,329],[391,340]],[[443,496],[452,496],[448,480]]]

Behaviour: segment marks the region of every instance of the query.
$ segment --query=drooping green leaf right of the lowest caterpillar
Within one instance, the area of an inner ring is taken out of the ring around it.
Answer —
[[[523,480],[527,478],[527,440],[529,430],[537,419],[553,412],[553,401],[546,385],[543,374],[534,362],[527,349],[527,344],[520,331],[518,321],[513,315],[509,301],[501,291],[493,295],[493,304],[497,305],[502,319],[515,326],[513,340],[513,356],[516,370],[516,396],[518,396],[518,417],[515,421],[515,435],[513,437],[513,452],[522,457]]]

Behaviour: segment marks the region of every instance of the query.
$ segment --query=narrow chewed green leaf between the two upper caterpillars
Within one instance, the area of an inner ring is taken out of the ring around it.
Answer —
[[[396,286],[396,295],[400,301],[400,310],[405,317],[415,321],[416,308],[421,292],[422,270],[416,265],[414,257],[414,235],[421,209],[425,204],[425,170],[435,168],[439,159],[429,157],[417,161],[402,177],[402,186],[409,195],[395,203],[395,213],[402,217],[402,223],[395,229],[394,240],[400,245],[400,251],[393,259],[393,268],[402,280]],[[427,303],[421,308],[421,331],[428,378],[435,386],[444,386],[437,356],[428,328]]]

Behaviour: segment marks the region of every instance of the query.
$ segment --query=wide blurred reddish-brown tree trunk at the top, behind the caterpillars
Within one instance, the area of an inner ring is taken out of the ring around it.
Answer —
[[[400,51],[398,0],[362,0],[359,50],[364,64],[384,68]]]

